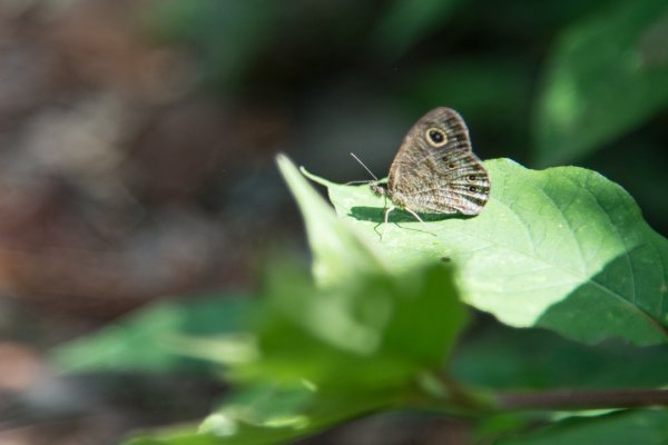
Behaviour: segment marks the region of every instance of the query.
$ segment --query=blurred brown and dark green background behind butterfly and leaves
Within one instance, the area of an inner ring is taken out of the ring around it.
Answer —
[[[668,8],[637,3],[0,0],[0,444],[208,412],[214,380],[62,382],[45,354],[148,301],[253,290],[276,246],[306,256],[279,151],[369,179],[354,151],[382,177],[448,106],[482,159],[596,169],[668,234]],[[424,442],[380,443],[458,443],[424,422]]]

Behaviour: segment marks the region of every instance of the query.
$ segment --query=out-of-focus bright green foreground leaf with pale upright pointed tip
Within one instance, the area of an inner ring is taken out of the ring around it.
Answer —
[[[465,323],[452,269],[438,264],[390,276],[372,249],[375,239],[337,218],[287,158],[278,166],[304,215],[316,278],[327,286],[277,268],[255,372],[276,378],[294,369],[293,377],[318,385],[392,386],[440,367]]]

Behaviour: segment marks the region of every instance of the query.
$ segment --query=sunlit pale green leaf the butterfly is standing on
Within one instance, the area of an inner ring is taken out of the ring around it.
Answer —
[[[464,301],[504,324],[587,343],[665,342],[668,243],[621,187],[574,167],[536,171],[508,159],[484,165],[492,187],[483,211],[424,216],[425,225],[395,211],[382,227],[385,204],[367,186],[312,179],[328,188],[338,215],[386,268],[400,273],[451,259]]]

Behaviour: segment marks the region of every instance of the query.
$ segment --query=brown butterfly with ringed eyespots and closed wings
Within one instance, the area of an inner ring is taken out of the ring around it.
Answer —
[[[387,182],[373,181],[371,189],[386,196],[392,206],[421,222],[422,214],[482,211],[490,197],[490,177],[471,149],[469,129],[455,110],[439,107],[424,115],[406,134]]]

